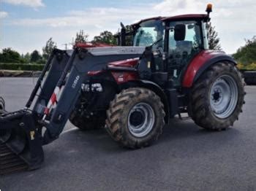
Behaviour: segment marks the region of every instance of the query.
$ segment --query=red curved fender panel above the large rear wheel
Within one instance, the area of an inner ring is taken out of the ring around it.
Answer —
[[[209,61],[211,58],[214,58],[220,53],[224,54],[224,52],[213,50],[203,50],[202,52],[197,54],[187,67],[187,71],[184,74],[182,86],[192,87],[197,71],[199,71],[199,69],[203,66],[204,63],[206,63],[206,61]]]

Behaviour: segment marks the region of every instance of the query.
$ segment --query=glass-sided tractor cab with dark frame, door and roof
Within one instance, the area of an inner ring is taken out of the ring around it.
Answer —
[[[132,32],[127,36],[132,34],[133,46],[147,47],[152,52],[152,72],[167,73],[164,74],[167,79],[173,80],[173,85],[180,86],[192,58],[201,50],[208,49],[208,20],[208,14],[152,17],[133,24]]]

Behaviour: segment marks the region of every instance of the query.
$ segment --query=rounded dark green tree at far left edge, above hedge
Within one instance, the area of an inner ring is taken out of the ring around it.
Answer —
[[[12,48],[4,48],[0,53],[1,63],[20,63],[20,54]]]

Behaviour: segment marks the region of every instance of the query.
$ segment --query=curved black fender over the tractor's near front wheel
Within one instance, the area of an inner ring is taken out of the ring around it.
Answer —
[[[125,82],[121,85],[119,85],[120,89],[127,89],[129,87],[145,87],[149,90],[154,91],[159,98],[161,98],[162,104],[164,104],[164,109],[165,109],[165,124],[169,124],[169,119],[170,119],[170,108],[169,108],[169,103],[167,96],[162,90],[162,87],[157,85],[154,82],[148,81],[148,80],[143,80],[143,79],[138,79],[138,80],[131,80],[129,82]]]

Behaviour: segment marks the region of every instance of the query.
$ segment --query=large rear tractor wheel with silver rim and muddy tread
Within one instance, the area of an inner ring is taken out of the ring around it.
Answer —
[[[233,63],[216,63],[208,68],[192,87],[192,119],[209,130],[233,126],[242,112],[244,84]]]

